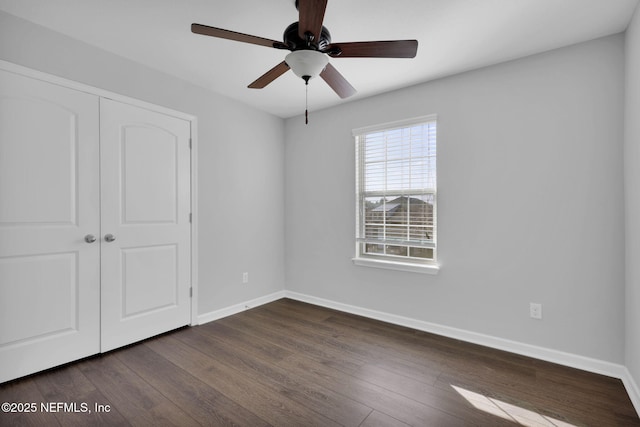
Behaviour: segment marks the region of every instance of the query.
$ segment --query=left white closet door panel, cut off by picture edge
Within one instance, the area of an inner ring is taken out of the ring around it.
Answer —
[[[0,382],[100,350],[98,106],[0,70]]]

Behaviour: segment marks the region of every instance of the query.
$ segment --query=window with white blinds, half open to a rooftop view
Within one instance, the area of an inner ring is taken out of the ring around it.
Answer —
[[[357,264],[436,266],[436,118],[356,129]],[[407,268],[403,268],[407,267]]]

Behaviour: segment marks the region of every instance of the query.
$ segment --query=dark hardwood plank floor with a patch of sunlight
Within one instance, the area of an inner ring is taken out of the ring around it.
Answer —
[[[620,380],[288,299],[2,384],[1,402],[37,408],[0,426],[640,426]]]

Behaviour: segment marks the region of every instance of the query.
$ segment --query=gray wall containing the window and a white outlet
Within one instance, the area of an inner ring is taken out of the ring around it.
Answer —
[[[623,85],[617,35],[287,120],[287,289],[622,363]],[[354,266],[351,130],[432,113],[440,273]]]

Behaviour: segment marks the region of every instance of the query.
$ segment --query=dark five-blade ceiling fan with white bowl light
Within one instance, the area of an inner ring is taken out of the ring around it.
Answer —
[[[327,0],[296,0],[296,8],[299,13],[298,22],[287,27],[282,42],[201,24],[191,24],[191,31],[205,36],[291,51],[284,61],[260,76],[249,88],[262,89],[292,69],[306,84],[309,84],[310,79],[320,75],[340,98],[347,98],[356,93],[356,90],[329,63],[329,57],[414,58],[418,51],[417,40],[331,43],[329,30],[322,25]]]

